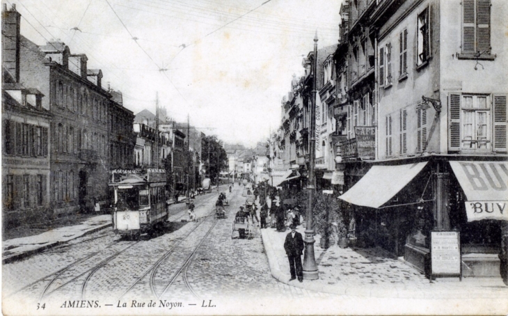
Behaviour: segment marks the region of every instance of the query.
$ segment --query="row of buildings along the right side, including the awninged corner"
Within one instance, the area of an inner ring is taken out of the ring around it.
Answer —
[[[305,182],[313,136],[317,188],[351,209],[360,244],[430,274],[432,232],[459,232],[461,260],[450,255],[443,266],[500,276],[508,238],[508,6],[344,0],[339,14],[338,45],[310,52],[283,97],[271,166],[297,170],[293,181]]]

